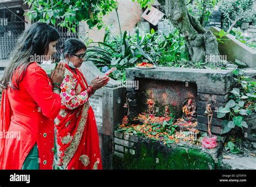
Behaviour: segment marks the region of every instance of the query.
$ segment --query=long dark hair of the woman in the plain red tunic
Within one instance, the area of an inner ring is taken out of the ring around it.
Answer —
[[[19,82],[25,76],[26,68],[31,63],[31,56],[43,56],[48,53],[49,43],[59,39],[58,31],[46,23],[34,23],[27,28],[17,40],[17,45],[12,52],[9,66],[4,71],[1,80],[2,87],[7,88],[12,76],[19,73],[16,85],[11,84],[12,89],[19,89]],[[34,60],[36,61],[36,60]]]

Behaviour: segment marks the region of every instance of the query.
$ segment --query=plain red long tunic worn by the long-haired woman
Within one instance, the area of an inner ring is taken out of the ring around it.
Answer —
[[[12,84],[17,77],[18,73]],[[6,89],[1,105],[1,133],[14,136],[1,141],[2,169],[21,169],[35,143],[39,169],[52,169],[54,119],[60,102],[60,96],[52,92],[49,77],[36,62],[29,64],[18,90]]]

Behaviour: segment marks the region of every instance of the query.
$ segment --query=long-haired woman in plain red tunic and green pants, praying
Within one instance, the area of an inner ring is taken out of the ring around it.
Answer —
[[[58,39],[55,28],[35,23],[17,41],[2,79],[0,169],[52,169],[53,121],[61,101],[57,87],[65,67],[59,63],[49,78],[33,57],[49,60]]]

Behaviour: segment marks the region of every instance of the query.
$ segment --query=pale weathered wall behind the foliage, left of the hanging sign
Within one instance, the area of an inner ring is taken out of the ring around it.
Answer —
[[[131,0],[118,0],[117,2],[122,31],[132,31],[136,24],[141,20],[141,15],[143,13],[142,9],[137,3],[132,3]],[[103,18],[103,22],[107,27],[110,27],[113,35],[120,33],[116,11],[113,10],[109,15],[106,15]],[[97,27],[94,27],[92,30],[89,30],[85,21],[82,21],[79,26],[79,33],[83,38],[89,37],[93,41],[102,41],[105,34],[105,28],[103,27],[98,30]]]

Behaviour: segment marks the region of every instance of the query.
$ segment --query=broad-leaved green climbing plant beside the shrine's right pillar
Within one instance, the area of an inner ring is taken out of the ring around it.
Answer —
[[[223,130],[221,133],[228,133],[235,127],[247,128],[244,117],[256,112],[256,82],[249,77],[242,76],[242,71],[236,69],[233,71],[235,85],[231,91],[232,99],[228,101],[225,107],[219,107],[218,118],[223,118],[228,114],[228,120],[223,121]]]

